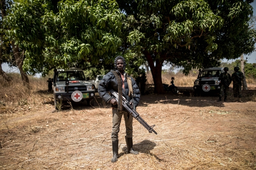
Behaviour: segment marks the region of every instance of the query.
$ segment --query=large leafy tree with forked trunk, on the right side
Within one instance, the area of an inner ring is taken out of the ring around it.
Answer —
[[[118,1],[125,13],[123,45],[147,60],[155,92],[163,93],[165,63],[183,72],[217,66],[254,49],[255,31],[248,28],[253,0],[127,0]]]

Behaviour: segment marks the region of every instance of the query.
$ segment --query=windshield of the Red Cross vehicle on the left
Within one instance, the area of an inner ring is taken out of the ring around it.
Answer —
[[[57,72],[57,81],[85,80],[83,71],[60,71]]]

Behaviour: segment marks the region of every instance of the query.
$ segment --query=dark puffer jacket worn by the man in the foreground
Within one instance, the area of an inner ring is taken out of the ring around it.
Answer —
[[[118,75],[121,78],[121,75],[119,71],[116,71]],[[134,105],[137,107],[139,105],[140,101],[140,90],[138,85],[136,84],[135,80],[131,77],[132,80],[132,88],[133,88],[133,100],[134,100]],[[124,89],[125,88],[125,89]],[[125,97],[126,100],[130,102],[132,100],[132,97],[130,99],[129,97],[129,87],[127,83],[127,74],[125,73],[125,80],[124,80],[124,88],[123,89],[123,96]],[[110,100],[113,98],[109,93],[108,89],[113,89],[116,92],[118,92],[118,85],[116,81],[116,77],[112,72],[108,72],[103,79],[100,81],[99,87],[98,87],[98,92],[100,97],[105,101],[105,102],[110,102]],[[117,105],[112,105],[112,107],[117,107]]]

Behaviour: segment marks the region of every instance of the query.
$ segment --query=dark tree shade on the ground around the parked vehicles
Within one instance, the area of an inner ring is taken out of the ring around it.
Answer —
[[[216,107],[224,107],[224,101],[222,98],[221,102],[217,102],[219,99],[218,93],[202,93],[200,96],[194,95],[193,87],[179,87],[180,92],[178,94],[174,94],[172,92],[164,93],[164,94],[154,94],[150,93],[148,95],[140,96],[140,107],[147,107],[148,104],[175,104],[175,105],[183,105],[189,107],[208,107],[208,106],[216,106]],[[48,93],[48,92],[41,92]],[[229,89],[228,101],[232,102],[234,100],[233,97],[233,89]],[[256,88],[252,87],[246,91],[242,90],[242,101],[255,101],[256,99]],[[48,104],[54,104],[53,102],[49,102]],[[87,102],[72,102],[72,107],[75,110],[83,110],[83,109],[94,109],[94,108],[110,108],[110,103],[105,103],[99,96],[98,93],[95,93],[95,102],[94,106],[87,106]],[[69,104],[65,104],[61,109],[63,111],[72,109]]]

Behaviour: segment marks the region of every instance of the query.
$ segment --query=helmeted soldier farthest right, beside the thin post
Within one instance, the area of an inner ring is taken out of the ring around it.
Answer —
[[[231,78],[233,80],[233,91],[234,91],[234,97],[236,101],[237,97],[239,99],[239,102],[242,102],[241,97],[241,91],[242,91],[242,80],[244,79],[244,74],[241,71],[238,71],[239,67],[234,68],[234,73],[232,74]]]

